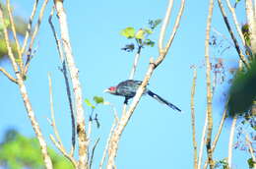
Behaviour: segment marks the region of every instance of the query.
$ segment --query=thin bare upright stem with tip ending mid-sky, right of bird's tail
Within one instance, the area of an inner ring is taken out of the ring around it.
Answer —
[[[192,125],[192,141],[194,147],[194,169],[197,169],[197,141],[196,141],[196,127],[195,127],[195,89],[196,89],[197,71],[194,68],[193,84],[191,88],[191,125]]]

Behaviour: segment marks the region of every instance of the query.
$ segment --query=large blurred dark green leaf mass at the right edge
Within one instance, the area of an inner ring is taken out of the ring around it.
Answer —
[[[229,116],[242,115],[247,112],[256,98],[256,60],[247,70],[237,71],[229,89]]]

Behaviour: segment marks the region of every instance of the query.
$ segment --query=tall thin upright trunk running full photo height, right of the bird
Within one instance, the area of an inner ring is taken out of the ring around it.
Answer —
[[[210,31],[212,25],[212,17],[214,10],[214,0],[209,1],[209,13],[207,17],[207,26],[206,26],[206,39],[205,39],[205,60],[206,60],[206,85],[207,85],[207,118],[208,118],[208,129],[207,129],[207,140],[206,140],[206,148],[208,161],[210,163],[210,168],[214,169],[214,161],[213,161],[213,151],[212,151],[212,133],[213,133],[213,108],[212,108],[212,86],[211,86],[211,63],[210,63],[210,51],[209,51],[209,39],[210,39]]]

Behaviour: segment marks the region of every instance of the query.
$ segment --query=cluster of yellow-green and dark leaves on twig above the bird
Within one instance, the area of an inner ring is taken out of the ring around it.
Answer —
[[[135,39],[138,48],[142,48],[144,46],[150,46],[154,47],[155,42],[148,38],[149,35],[154,33],[155,28],[157,28],[160,25],[161,20],[150,20],[149,21],[149,28],[140,28],[136,30],[135,28],[128,27],[121,30],[120,34],[125,36],[128,39]],[[125,50],[127,52],[133,51],[135,48],[134,43],[126,44],[125,47],[122,48],[122,50]]]

